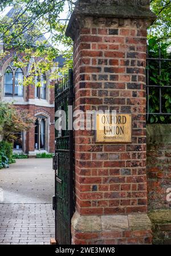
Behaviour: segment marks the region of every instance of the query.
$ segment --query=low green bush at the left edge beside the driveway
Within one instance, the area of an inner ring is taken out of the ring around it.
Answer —
[[[13,164],[13,144],[7,141],[0,142],[0,169],[9,167],[9,164]]]

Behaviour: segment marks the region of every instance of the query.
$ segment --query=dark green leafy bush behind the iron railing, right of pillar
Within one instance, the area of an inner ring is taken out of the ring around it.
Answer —
[[[170,53],[167,52],[168,43],[157,42],[157,38],[151,38],[148,41],[148,66],[149,73],[149,113],[160,113],[160,88],[161,88],[161,111],[162,113],[171,113],[171,83],[170,83]],[[157,60],[162,59],[161,63]],[[154,86],[154,87],[153,87]],[[156,87],[155,87],[156,86]],[[167,86],[167,87],[164,87]],[[157,88],[158,87],[158,88]],[[171,123],[169,115],[148,115],[147,123]]]

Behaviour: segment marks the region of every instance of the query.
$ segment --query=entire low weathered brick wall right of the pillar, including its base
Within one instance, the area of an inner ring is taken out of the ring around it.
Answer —
[[[148,215],[153,243],[171,244],[171,124],[147,125]]]

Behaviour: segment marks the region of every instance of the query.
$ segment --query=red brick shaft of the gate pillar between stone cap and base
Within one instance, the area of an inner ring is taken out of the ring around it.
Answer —
[[[75,109],[133,117],[132,144],[95,144],[92,131],[75,132],[80,214],[146,212],[145,58],[143,20],[87,18],[75,39]]]

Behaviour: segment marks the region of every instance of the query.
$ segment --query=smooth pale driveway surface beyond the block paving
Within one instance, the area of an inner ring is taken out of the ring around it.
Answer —
[[[0,203],[51,204],[54,181],[52,159],[17,159],[0,170]]]

